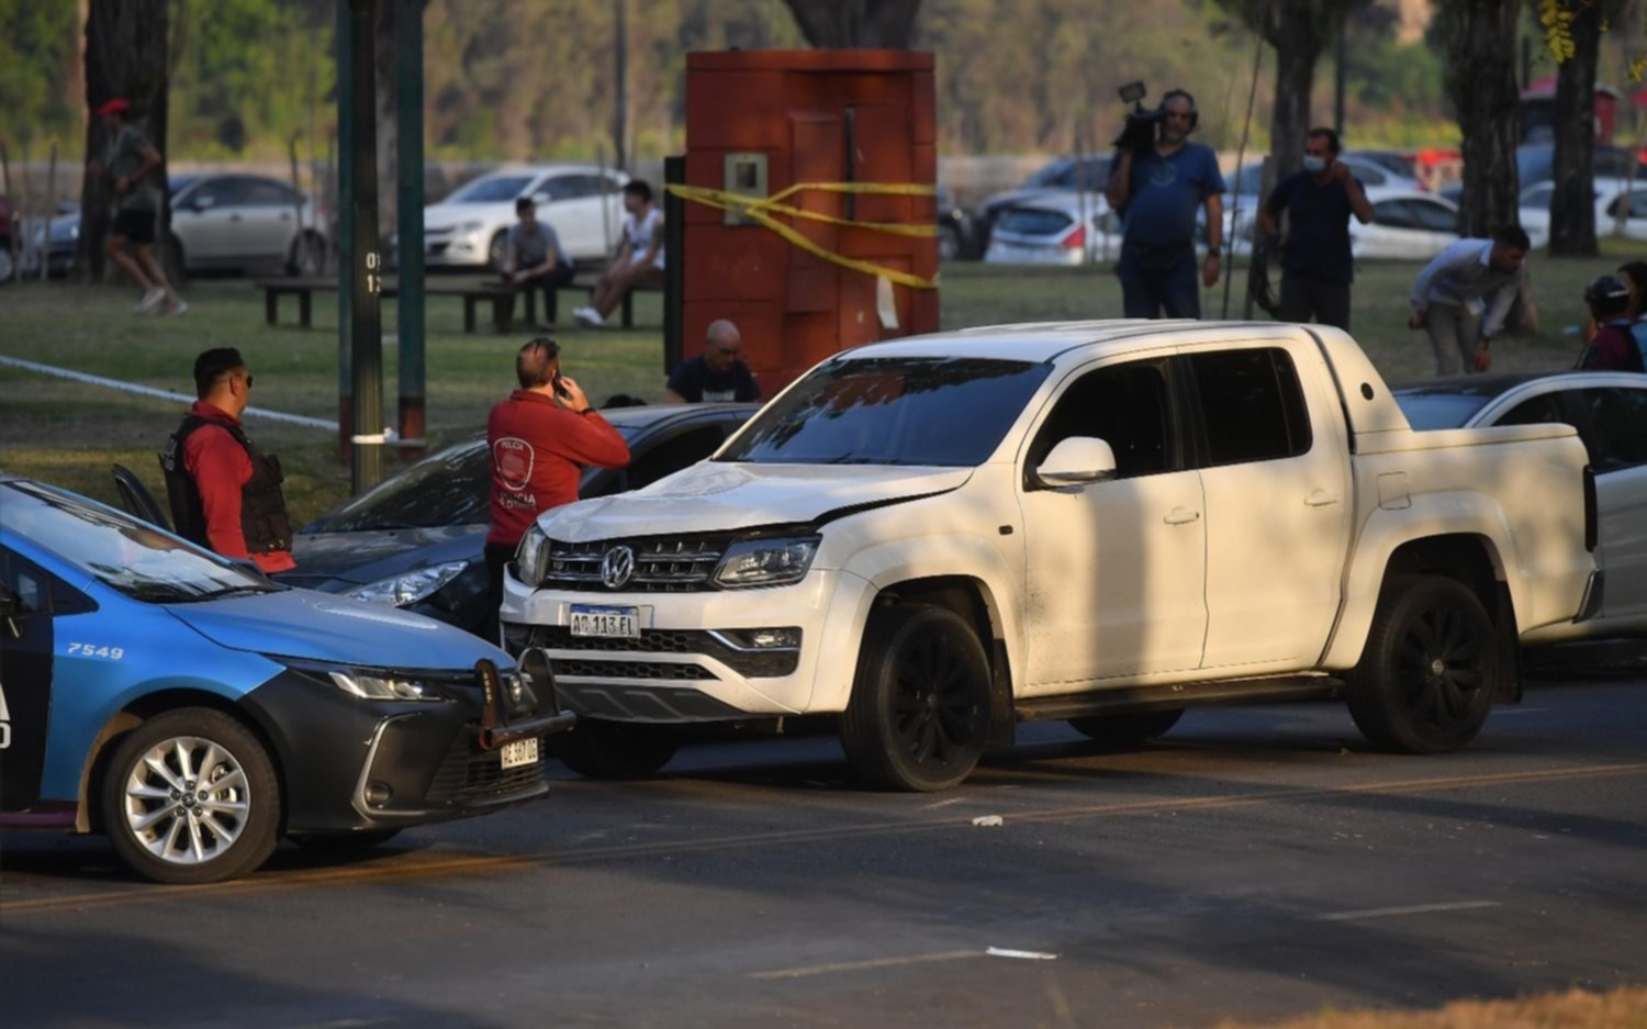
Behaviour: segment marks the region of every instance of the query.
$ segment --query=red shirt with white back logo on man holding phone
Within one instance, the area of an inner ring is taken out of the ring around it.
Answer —
[[[488,543],[514,547],[537,515],[578,499],[583,468],[623,468],[629,446],[598,412],[575,415],[547,393],[516,390],[486,420],[492,463]]]

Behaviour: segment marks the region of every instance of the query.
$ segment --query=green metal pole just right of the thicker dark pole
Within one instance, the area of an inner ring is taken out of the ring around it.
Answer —
[[[400,440],[423,440],[423,0],[395,0],[395,145],[399,147],[400,252],[397,296]],[[405,446],[405,459],[423,456]]]

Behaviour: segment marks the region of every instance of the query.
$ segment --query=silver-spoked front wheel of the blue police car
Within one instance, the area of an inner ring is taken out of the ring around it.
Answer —
[[[150,718],[115,747],[100,785],[115,853],[155,882],[219,882],[273,853],[280,780],[264,744],[209,708]]]

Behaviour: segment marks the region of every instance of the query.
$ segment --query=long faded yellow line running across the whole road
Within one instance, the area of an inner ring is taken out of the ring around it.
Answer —
[[[1013,822],[1075,822],[1082,818],[1105,818],[1125,815],[1151,815],[1159,812],[1211,812],[1242,807],[1260,807],[1291,800],[1332,800],[1355,795],[1375,794],[1428,794],[1446,789],[1471,789],[1517,784],[1565,782],[1575,779],[1607,779],[1619,775],[1647,774],[1647,762],[1578,766],[1566,769],[1542,769],[1528,772],[1489,772],[1482,775],[1456,775],[1435,779],[1397,779],[1390,782],[1367,782],[1342,787],[1318,789],[1280,789],[1252,794],[1234,794],[1220,797],[1166,797],[1155,800],[1125,800],[1118,803],[1095,803],[1067,808],[1047,808],[1043,812],[1015,813]],[[746,833],[741,836],[712,836],[707,840],[659,840],[651,843],[621,843],[588,850],[558,850],[527,854],[455,854],[450,858],[422,858],[418,861],[394,861],[369,866],[351,866],[339,869],[315,869],[300,873],[265,873],[252,879],[219,882],[211,886],[173,886],[165,889],[135,887],[99,894],[77,894],[71,897],[38,897],[33,901],[0,902],[0,915],[33,914],[61,909],[119,907],[125,904],[153,904],[171,901],[189,901],[206,896],[252,894],[275,889],[292,889],[300,886],[329,884],[371,884],[395,882],[415,876],[433,876],[445,873],[489,873],[512,871],[557,864],[588,864],[600,861],[626,861],[652,856],[703,854],[726,850],[746,850],[758,846],[784,846],[796,843],[842,841],[870,836],[899,836],[907,833],[927,833],[934,830],[970,830],[972,818],[929,818],[914,822],[876,822],[870,825],[847,825],[812,830],[782,830],[771,833]],[[16,873],[12,873],[16,879]]]

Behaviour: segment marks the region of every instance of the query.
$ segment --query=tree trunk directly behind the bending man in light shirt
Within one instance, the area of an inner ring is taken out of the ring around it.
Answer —
[[[1515,87],[1519,0],[1449,0],[1436,8],[1446,40],[1446,87],[1464,132],[1464,196],[1459,234],[1492,235],[1520,224],[1515,145],[1520,97]]]

